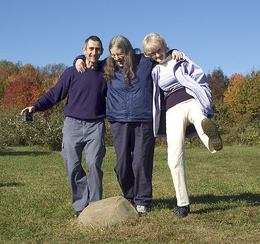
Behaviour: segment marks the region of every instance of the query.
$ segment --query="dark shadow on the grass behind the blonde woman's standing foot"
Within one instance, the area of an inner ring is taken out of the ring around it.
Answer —
[[[190,197],[190,202],[192,203],[235,203],[245,201],[246,203],[253,204],[255,206],[260,205],[260,194],[257,193],[242,193],[240,195],[230,195],[230,196],[215,196],[215,195],[202,195],[202,196],[193,196]],[[160,206],[166,206],[169,209],[174,209],[177,206],[176,199],[154,199],[152,201],[151,206],[153,207],[160,207]],[[206,208],[203,210],[195,211],[193,213],[205,213],[210,211],[216,211],[216,210],[223,210],[230,208],[229,206],[226,207],[211,207]]]

